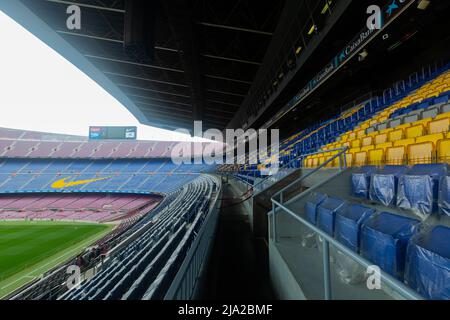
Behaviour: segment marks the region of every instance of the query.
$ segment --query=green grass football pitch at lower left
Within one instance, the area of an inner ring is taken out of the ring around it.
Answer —
[[[82,252],[112,225],[0,221],[0,298]]]

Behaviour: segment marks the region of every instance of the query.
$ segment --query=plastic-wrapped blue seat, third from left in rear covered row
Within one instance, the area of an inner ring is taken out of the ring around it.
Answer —
[[[439,180],[447,175],[447,165],[416,165],[399,179],[397,206],[422,215],[437,212]]]

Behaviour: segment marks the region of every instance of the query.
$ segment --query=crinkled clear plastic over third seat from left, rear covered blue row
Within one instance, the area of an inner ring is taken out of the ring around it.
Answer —
[[[435,181],[430,176],[401,176],[398,182],[397,206],[426,217],[434,211]]]

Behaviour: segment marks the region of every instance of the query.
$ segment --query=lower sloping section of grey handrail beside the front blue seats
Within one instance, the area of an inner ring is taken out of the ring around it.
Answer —
[[[325,299],[330,300],[331,299],[331,277],[329,274],[329,251],[328,251],[328,245],[331,244],[332,246],[336,247],[340,251],[342,251],[347,256],[350,256],[352,259],[354,259],[357,263],[364,267],[373,266],[373,263],[370,261],[364,259],[360,255],[358,255],[356,252],[352,251],[351,249],[347,248],[345,245],[341,244],[340,242],[336,241],[334,238],[332,238],[330,235],[322,231],[321,229],[317,228],[315,225],[311,224],[307,220],[300,217],[298,214],[294,213],[289,208],[285,207],[283,204],[279,203],[275,199],[271,199],[273,203],[273,212],[272,214],[275,216],[276,208],[279,207],[281,210],[289,214],[291,217],[296,219],[298,222],[302,223],[315,233],[319,234],[323,239],[323,254],[324,254],[324,288],[325,288]],[[274,218],[274,217],[273,217]],[[274,231],[276,229],[274,228]],[[274,233],[274,241],[276,241],[276,234]],[[326,257],[325,257],[326,256]],[[326,265],[328,264],[328,265]],[[412,290],[411,288],[407,287],[405,284],[400,282],[399,280],[395,279],[391,275],[387,274],[385,271],[380,270],[380,277],[382,281],[385,281],[391,288],[395,289],[400,293],[400,295],[406,299],[412,299],[412,300],[423,300],[423,297],[420,296],[417,292]]]

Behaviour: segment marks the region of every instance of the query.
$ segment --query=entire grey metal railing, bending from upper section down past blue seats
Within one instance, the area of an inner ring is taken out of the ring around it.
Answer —
[[[304,218],[302,218],[299,214],[293,212],[291,209],[287,208],[284,205],[284,192],[294,186],[295,184],[303,181],[307,177],[313,175],[314,173],[318,172],[321,168],[325,167],[328,163],[331,161],[334,161],[336,157],[342,157],[343,159],[340,160],[340,163],[342,164],[340,166],[340,171],[343,171],[346,169],[346,162],[345,162],[345,152],[347,151],[347,148],[344,150],[341,150],[340,153],[335,155],[334,157],[330,158],[326,162],[324,162],[322,165],[320,165],[315,170],[311,171],[310,173],[306,174],[305,176],[300,177],[296,181],[292,182],[290,185],[286,186],[285,188],[281,189],[279,192],[277,192],[271,199],[272,202],[272,211],[269,212],[269,219],[272,222],[272,239],[275,243],[278,242],[277,237],[277,224],[276,224],[276,218],[277,215],[281,212],[284,212],[288,214],[290,217],[294,218],[296,221],[300,222],[302,225],[306,226],[308,229],[312,230],[316,234],[318,234],[320,237],[322,237],[322,263],[323,263],[323,277],[324,277],[324,299],[325,300],[332,300],[332,288],[331,288],[331,265],[330,265],[330,244],[335,247],[336,249],[340,250],[344,255],[350,257],[354,261],[356,261],[359,265],[362,265],[363,267],[367,268],[369,266],[373,266],[373,263],[364,259],[356,252],[352,251],[345,245],[341,244],[334,238],[332,238],[329,234],[322,231],[315,225],[311,224]],[[330,152],[330,151],[327,151]],[[314,154],[323,153],[323,152],[317,152]],[[311,154],[311,155],[314,155]],[[308,192],[308,191],[306,191]],[[278,198],[278,199],[276,199]],[[398,294],[400,294],[401,297],[405,299],[411,299],[411,300],[422,300],[423,298],[414,290],[407,287],[404,283],[400,282],[396,278],[392,277],[388,273],[384,271],[380,271],[380,279],[381,281],[388,284],[388,286],[392,289],[394,289]]]

